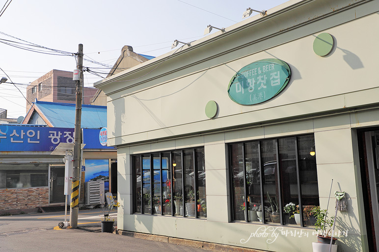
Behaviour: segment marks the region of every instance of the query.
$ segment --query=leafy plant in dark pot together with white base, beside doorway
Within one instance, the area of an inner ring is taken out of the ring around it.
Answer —
[[[310,210],[310,214],[312,214],[316,219],[316,222],[315,222],[316,231],[318,232],[321,231],[321,234],[317,235],[317,243],[313,243],[313,251],[314,252],[329,251],[329,244],[330,244],[330,239],[331,239],[330,232],[334,223],[334,216],[328,217],[326,210],[321,209],[320,206],[314,206]],[[337,241],[337,238],[333,237],[332,246],[335,247],[335,249],[333,250],[337,250],[337,245],[335,245],[336,241]]]

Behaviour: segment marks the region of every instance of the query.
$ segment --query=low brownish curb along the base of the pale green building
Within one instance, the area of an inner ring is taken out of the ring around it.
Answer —
[[[231,246],[231,245],[195,241],[195,240],[175,238],[175,237],[156,235],[156,234],[136,233],[136,232],[130,232],[130,231],[124,231],[124,230],[115,230],[113,231],[113,233],[129,236],[129,237],[134,237],[138,239],[164,242],[164,243],[172,243],[175,245],[182,245],[182,246],[199,248],[199,249],[203,249],[207,251],[215,251],[215,252],[267,252],[263,250],[248,249],[248,248],[242,248],[242,247]]]

